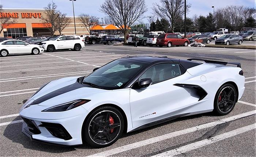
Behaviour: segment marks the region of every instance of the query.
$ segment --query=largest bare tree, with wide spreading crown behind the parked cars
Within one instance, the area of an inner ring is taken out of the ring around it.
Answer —
[[[113,19],[124,33],[124,42],[131,27],[137,20],[143,19],[147,11],[145,0],[105,0],[100,11]]]

